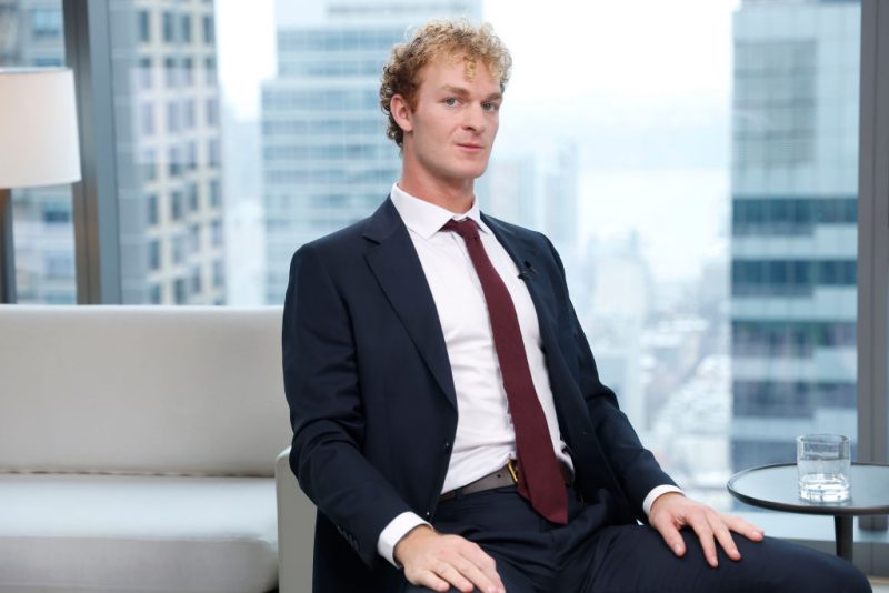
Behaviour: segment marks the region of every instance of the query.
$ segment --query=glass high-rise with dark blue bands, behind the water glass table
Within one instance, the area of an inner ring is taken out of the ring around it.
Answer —
[[[748,0],[735,16],[732,464],[856,435],[860,6]]]

